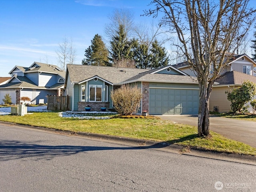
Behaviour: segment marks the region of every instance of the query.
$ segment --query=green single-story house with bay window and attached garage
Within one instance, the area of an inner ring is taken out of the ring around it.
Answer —
[[[149,70],[108,66],[68,64],[64,89],[72,111],[114,108],[111,90],[123,84],[136,84],[142,92],[138,113],[151,115],[198,114],[199,87],[196,78],[171,65]]]

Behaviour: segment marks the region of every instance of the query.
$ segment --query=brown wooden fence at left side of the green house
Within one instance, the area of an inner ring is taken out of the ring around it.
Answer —
[[[47,110],[51,111],[64,111],[70,110],[70,99],[69,96],[47,96]]]

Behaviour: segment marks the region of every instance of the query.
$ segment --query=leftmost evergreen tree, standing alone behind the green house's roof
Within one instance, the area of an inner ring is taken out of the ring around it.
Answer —
[[[106,66],[108,64],[108,49],[102,37],[98,34],[91,40],[91,46],[85,50],[83,65]]]

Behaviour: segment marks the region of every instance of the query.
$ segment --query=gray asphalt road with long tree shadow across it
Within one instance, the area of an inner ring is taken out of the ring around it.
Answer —
[[[0,125],[0,191],[256,191],[256,166]]]

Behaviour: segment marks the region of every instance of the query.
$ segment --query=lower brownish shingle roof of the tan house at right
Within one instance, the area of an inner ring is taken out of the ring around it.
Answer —
[[[256,77],[252,75],[248,75],[245,73],[241,73],[238,71],[230,71],[222,74],[219,78],[215,80],[219,85],[242,85],[242,83],[246,80],[256,83]]]

